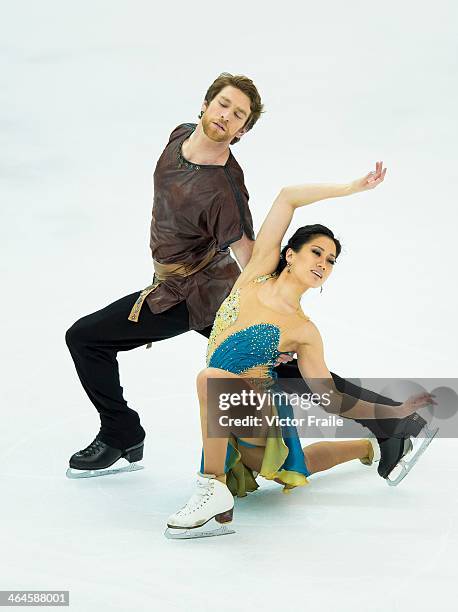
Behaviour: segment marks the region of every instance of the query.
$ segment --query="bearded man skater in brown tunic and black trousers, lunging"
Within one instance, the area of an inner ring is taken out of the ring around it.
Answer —
[[[145,430],[123,398],[118,351],[189,330],[210,335],[216,311],[240,274],[229,245],[244,268],[255,238],[243,172],[229,145],[251,130],[262,112],[252,80],[222,73],[205,94],[199,123],[181,124],[171,133],[154,172],[152,285],[82,317],[66,332],[78,376],[101,420],[93,442],[70,458],[69,477],[139,469],[135,462],[143,457]],[[301,378],[296,360],[285,363],[288,359],[279,359],[279,377]],[[396,404],[332,375],[340,391]],[[410,450],[408,436],[425,424],[418,415],[393,419],[394,437],[387,438],[376,421],[359,422],[379,440],[383,477]],[[386,426],[385,419],[385,432]],[[108,469],[120,458],[129,465]]]

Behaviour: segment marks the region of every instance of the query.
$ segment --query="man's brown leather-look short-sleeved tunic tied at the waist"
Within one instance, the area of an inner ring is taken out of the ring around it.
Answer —
[[[156,262],[184,264],[190,270],[211,256],[210,251],[214,255],[189,276],[158,281],[155,275],[157,286],[146,302],[157,314],[186,300],[189,328],[202,329],[213,323],[240,275],[229,245],[243,233],[251,240],[255,235],[243,171],[232,152],[224,166],[193,164],[183,158],[181,145],[195,127],[194,123],[176,127],[157,162],[150,247]]]

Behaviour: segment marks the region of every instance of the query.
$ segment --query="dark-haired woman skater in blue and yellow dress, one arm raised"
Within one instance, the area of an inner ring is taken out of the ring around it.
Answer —
[[[224,438],[209,437],[208,428],[221,412],[208,402],[207,381],[256,379],[265,381],[268,388],[275,383],[274,365],[279,353],[294,352],[310,389],[320,395],[332,390],[333,399],[327,410],[342,412],[348,396],[336,389],[324,361],[320,333],[300,307],[302,295],[322,286],[330,276],[341,245],[322,225],[299,228],[280,253],[281,242],[296,208],[374,189],[385,178],[386,168],[382,166],[377,162],[375,172],[348,184],[285,187],[275,199],[256,238],[250,262],[221,304],[213,324],[207,367],[197,377],[203,440],[201,472],[194,495],[169,517],[168,537],[234,533],[225,526],[232,521],[233,496],[254,491],[258,474],[282,484],[284,492],[288,492],[308,484],[311,474],[340,463],[359,459],[371,465],[377,460],[376,439],[317,442],[302,449],[297,430],[291,427],[288,435],[278,427],[275,436],[237,438],[228,431]],[[352,408],[346,409],[344,416],[354,419],[402,418],[435,403],[426,393],[400,406],[355,402],[353,398],[350,401]],[[206,525],[212,519],[217,526],[214,531]],[[203,525],[204,531],[196,529]]]

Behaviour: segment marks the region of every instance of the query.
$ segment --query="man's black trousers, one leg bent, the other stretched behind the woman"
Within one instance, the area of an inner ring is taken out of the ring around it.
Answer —
[[[141,442],[145,430],[140,425],[137,412],[129,408],[122,394],[117,361],[118,351],[131,349],[172,338],[189,331],[188,309],[186,302],[180,302],[169,310],[153,314],[144,303],[138,322],[128,320],[132,306],[139,291],[126,295],[105,308],[78,319],[66,332],[65,340],[75,363],[81,384],[89,399],[100,414],[100,439],[114,448],[125,449]],[[211,325],[198,330],[198,333],[210,335]],[[279,378],[301,378],[297,361],[293,360],[277,366]],[[382,402],[399,405],[399,402],[342,379],[332,373],[339,391],[345,391],[353,397],[371,402]],[[389,419],[391,421],[392,419]],[[387,425],[384,420],[384,426]],[[398,419],[393,419],[395,424]],[[361,421],[374,433],[377,431],[373,419]]]

